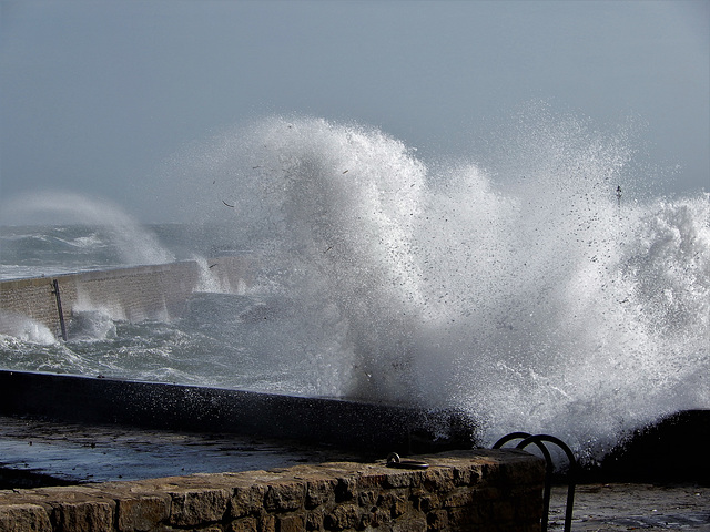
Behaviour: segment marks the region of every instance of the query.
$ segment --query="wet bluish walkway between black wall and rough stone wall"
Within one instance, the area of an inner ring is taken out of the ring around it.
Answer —
[[[0,488],[251,471],[357,460],[326,447],[263,438],[82,426],[0,417]]]

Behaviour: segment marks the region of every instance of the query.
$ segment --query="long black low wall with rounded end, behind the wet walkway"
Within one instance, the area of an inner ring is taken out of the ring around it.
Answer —
[[[0,370],[0,413],[67,422],[258,434],[371,453],[470,449],[456,411],[337,398]]]

